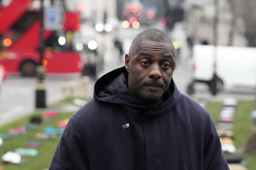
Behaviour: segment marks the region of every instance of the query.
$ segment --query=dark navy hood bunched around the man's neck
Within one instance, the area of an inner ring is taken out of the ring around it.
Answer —
[[[172,78],[168,90],[163,95],[163,101],[146,105],[129,90],[127,80],[128,72],[125,66],[103,75],[94,85],[94,99],[112,104],[122,104],[129,109],[147,110],[145,115],[158,116],[173,108],[181,96]]]

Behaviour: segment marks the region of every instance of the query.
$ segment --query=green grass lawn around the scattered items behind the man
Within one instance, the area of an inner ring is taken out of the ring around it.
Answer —
[[[59,104],[71,103],[72,100],[65,100],[59,102]],[[212,119],[217,122],[218,116],[220,115],[223,105],[221,102],[208,102],[206,104],[206,109],[209,111]],[[234,145],[237,149],[241,148],[246,144],[247,139],[251,133],[251,122],[250,113],[253,109],[253,101],[238,101],[236,111],[234,113]],[[38,125],[37,130],[29,130],[25,135],[14,136],[12,139],[4,140],[4,144],[0,147],[0,157],[3,156],[7,151],[14,151],[18,147],[24,147],[27,141],[40,141],[41,147],[38,148],[38,156],[29,157],[22,156],[23,164],[3,164],[0,161],[0,167],[4,167],[4,170],[44,170],[49,167],[51,158],[53,156],[56,145],[59,141],[60,135],[54,140],[36,140],[35,134],[38,132],[43,132],[43,129],[48,126],[57,128],[57,122],[59,120],[64,120],[70,118],[74,112],[60,113],[56,118],[51,121],[45,121]],[[33,115],[40,115],[42,113],[34,113]],[[18,121],[14,121],[3,127],[0,127],[0,133],[7,133],[12,127],[17,127],[21,125],[26,125],[29,123],[30,118],[33,115],[21,118]],[[256,167],[256,156],[244,155],[247,161],[248,170],[254,170]]]

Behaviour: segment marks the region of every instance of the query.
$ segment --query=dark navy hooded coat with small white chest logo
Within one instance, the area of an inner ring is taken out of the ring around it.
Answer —
[[[229,170],[209,113],[174,81],[145,105],[125,67],[101,77],[94,98],[70,118],[49,170]]]

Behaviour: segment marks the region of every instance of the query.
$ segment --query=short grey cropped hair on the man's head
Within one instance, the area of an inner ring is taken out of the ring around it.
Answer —
[[[176,58],[176,52],[173,43],[171,42],[170,38],[168,38],[167,35],[165,35],[165,33],[160,31],[159,29],[147,29],[136,35],[136,37],[132,41],[132,45],[130,46],[129,55],[134,55],[141,41],[146,40],[170,44]]]

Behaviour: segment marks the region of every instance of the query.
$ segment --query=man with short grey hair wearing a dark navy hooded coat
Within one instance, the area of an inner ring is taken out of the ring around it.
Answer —
[[[209,113],[174,84],[175,66],[163,32],[138,34],[125,66],[69,120],[50,170],[229,170]]]

